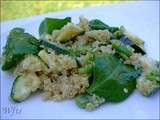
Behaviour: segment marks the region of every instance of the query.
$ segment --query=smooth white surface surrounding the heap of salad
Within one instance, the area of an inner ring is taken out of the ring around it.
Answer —
[[[49,13],[25,19],[1,23],[1,45],[4,46],[8,32],[14,27],[25,28],[38,37],[38,26],[44,17],[64,18],[78,16],[98,18],[109,25],[124,25],[128,30],[145,40],[150,57],[159,58],[159,2],[137,2],[130,4],[103,5],[95,8],[75,9]],[[1,71],[1,118],[3,119],[158,119],[160,92],[146,98],[135,91],[126,101],[118,104],[106,103],[93,112],[79,109],[73,100],[43,102],[35,95],[20,104],[9,101],[13,77]],[[15,108],[15,109],[14,109]],[[9,111],[10,110],[10,111]],[[16,113],[18,110],[18,113]],[[21,112],[19,112],[21,110]]]

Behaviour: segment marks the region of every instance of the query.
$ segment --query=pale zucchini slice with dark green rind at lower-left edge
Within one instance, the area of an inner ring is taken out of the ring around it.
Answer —
[[[40,80],[35,73],[23,74],[13,82],[10,98],[14,102],[22,102],[26,100],[32,92],[40,87]]]

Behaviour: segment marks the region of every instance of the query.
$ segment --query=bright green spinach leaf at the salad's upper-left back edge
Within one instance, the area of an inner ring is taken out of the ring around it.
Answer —
[[[64,19],[45,18],[39,26],[39,35],[51,34],[53,30],[61,29],[68,22],[71,22],[70,17],[66,17]]]

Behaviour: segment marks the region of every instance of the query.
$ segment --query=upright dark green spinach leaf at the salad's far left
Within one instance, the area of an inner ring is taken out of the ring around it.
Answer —
[[[2,70],[9,70],[23,59],[25,54],[36,54],[39,51],[39,41],[25,33],[22,28],[11,30],[3,52]]]

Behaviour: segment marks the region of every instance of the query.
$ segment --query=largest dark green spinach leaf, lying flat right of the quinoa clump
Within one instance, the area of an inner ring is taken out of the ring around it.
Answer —
[[[123,64],[114,55],[95,56],[94,81],[89,87],[88,93],[96,94],[110,102],[123,101],[134,91],[136,78],[140,73],[140,70]]]

